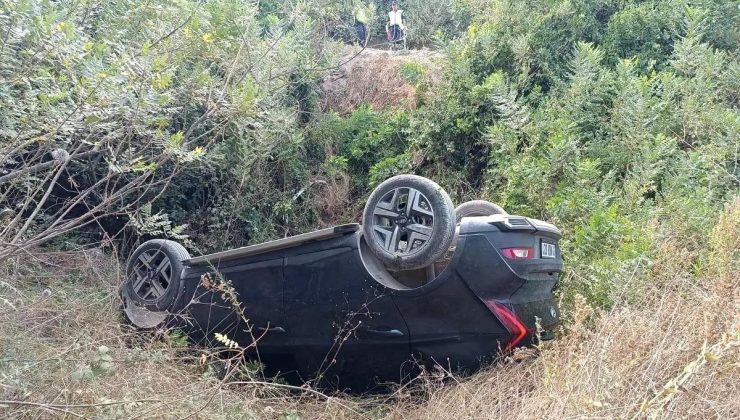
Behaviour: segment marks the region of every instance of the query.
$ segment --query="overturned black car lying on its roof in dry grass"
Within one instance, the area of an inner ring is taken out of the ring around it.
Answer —
[[[559,239],[549,223],[485,201],[455,209],[434,182],[400,175],[371,194],[362,225],[195,258],[147,241],[121,295],[139,328],[205,345],[256,338],[273,372],[367,389],[420,365],[473,371],[538,328],[551,336]],[[231,292],[214,286],[224,281]]]

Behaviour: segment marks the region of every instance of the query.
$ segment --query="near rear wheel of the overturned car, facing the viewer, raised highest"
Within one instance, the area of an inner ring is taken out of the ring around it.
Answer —
[[[455,208],[437,183],[398,175],[370,194],[362,222],[368,247],[386,267],[411,270],[433,264],[450,247]]]

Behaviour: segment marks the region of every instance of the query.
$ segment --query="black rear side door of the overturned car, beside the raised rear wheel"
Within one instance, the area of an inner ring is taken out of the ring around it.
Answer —
[[[353,389],[398,380],[408,329],[390,296],[369,281],[356,248],[286,259],[286,320],[304,380]]]

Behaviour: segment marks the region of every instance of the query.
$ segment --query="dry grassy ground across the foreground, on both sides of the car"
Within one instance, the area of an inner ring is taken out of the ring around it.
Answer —
[[[0,417],[738,418],[740,203],[710,243],[699,276],[682,244],[654,244],[647,278],[608,311],[576,299],[540,349],[365,398],[224,383],[180,337],[120,323],[114,258],[40,254],[0,277]]]

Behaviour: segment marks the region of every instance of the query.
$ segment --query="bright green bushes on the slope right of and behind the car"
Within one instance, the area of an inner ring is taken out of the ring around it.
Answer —
[[[310,132],[346,163],[358,199],[403,168],[457,202],[554,221],[565,297],[608,306],[665,235],[701,254],[737,196],[737,26],[715,26],[721,12],[737,20],[728,4],[471,2],[417,109],[386,114],[385,129],[360,109]],[[413,65],[402,74],[413,80]],[[401,149],[378,141],[394,136]]]

